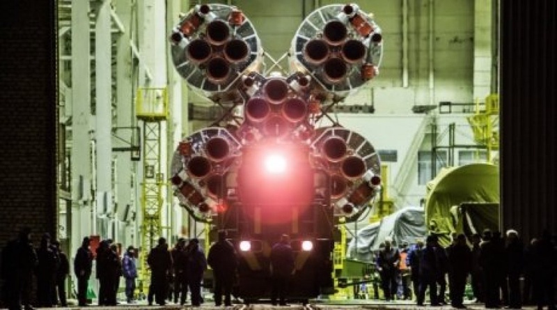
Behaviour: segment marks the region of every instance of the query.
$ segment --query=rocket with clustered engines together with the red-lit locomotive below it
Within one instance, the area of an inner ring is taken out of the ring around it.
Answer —
[[[195,6],[169,40],[190,88],[227,111],[179,142],[171,183],[212,240],[228,231],[240,256],[235,295],[269,296],[269,254],[284,233],[295,251],[290,299],[332,293],[336,226],[369,208],[380,163],[361,134],[319,124],[377,75],[381,29],[354,3],[318,8],[295,33],[288,75],[262,73],[260,39],[235,6]]]

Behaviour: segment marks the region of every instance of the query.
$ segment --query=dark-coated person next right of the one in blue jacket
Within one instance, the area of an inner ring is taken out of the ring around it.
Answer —
[[[157,246],[149,253],[147,263],[151,268],[151,286],[155,302],[164,306],[168,296],[168,273],[172,268],[172,257],[165,238],[159,238]],[[151,304],[152,300],[148,302]]]

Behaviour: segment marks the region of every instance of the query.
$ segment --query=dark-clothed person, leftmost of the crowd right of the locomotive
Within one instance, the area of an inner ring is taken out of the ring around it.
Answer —
[[[393,240],[391,238],[385,238],[385,247],[379,251],[377,256],[377,270],[379,270],[379,275],[381,277],[381,286],[383,288],[383,293],[385,295],[386,301],[393,300],[396,295],[396,290],[398,288],[397,277],[398,277],[398,267],[400,264],[400,253],[397,248],[391,245]]]

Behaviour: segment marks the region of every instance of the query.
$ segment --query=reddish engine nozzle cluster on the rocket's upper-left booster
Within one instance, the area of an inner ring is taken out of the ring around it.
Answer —
[[[178,44],[184,37],[189,37],[198,31],[203,22],[208,22],[205,33],[191,40],[186,48],[186,57],[190,63],[205,69],[207,79],[214,84],[226,82],[232,74],[232,68],[237,63],[243,63],[249,58],[249,46],[232,35],[232,27],[240,26],[244,20],[241,10],[234,9],[227,20],[218,19],[206,4],[196,7],[196,10],[180,25],[179,31],[171,35],[171,41]]]

